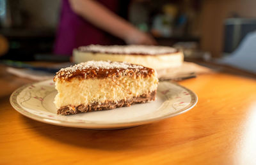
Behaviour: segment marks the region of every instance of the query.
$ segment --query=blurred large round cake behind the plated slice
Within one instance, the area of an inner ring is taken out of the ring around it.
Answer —
[[[74,62],[86,61],[126,61],[132,64],[165,69],[182,65],[184,55],[172,47],[149,45],[89,45],[79,47],[73,52]]]

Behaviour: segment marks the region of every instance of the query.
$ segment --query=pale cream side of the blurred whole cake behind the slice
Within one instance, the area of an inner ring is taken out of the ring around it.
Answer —
[[[132,64],[154,69],[174,68],[182,65],[184,55],[182,52],[163,55],[125,55],[125,54],[92,54],[90,52],[73,51],[74,62],[86,61],[126,61]]]

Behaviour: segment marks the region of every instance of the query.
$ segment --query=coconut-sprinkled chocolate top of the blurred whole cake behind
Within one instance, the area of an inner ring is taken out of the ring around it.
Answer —
[[[177,49],[172,47],[163,46],[150,46],[150,45],[88,45],[86,47],[79,47],[78,50],[82,52],[99,52],[109,54],[170,54],[177,52]]]

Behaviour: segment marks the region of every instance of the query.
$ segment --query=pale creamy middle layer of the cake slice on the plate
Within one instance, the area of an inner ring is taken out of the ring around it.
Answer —
[[[58,94],[54,99],[56,108],[95,102],[120,101],[131,97],[148,94],[157,89],[158,79],[156,75],[147,78],[131,78],[120,76],[119,78],[89,78],[79,80],[72,78],[70,82],[57,79],[55,87]]]

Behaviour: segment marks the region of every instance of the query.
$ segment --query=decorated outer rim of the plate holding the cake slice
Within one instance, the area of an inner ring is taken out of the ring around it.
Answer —
[[[192,90],[190,90],[182,85],[179,85],[178,83],[175,83],[175,82],[163,81],[163,82],[172,83],[174,85],[181,87],[182,89],[187,90],[191,96],[191,103],[189,103],[186,107],[179,110],[179,112],[177,112],[177,113],[168,113],[161,117],[150,118],[150,119],[145,118],[143,120],[137,120],[137,121],[132,121],[132,122],[115,122],[115,123],[101,123],[100,124],[100,123],[95,123],[95,122],[86,123],[86,122],[62,121],[62,120],[57,120],[57,119],[50,118],[50,117],[40,117],[40,116],[35,115],[29,111],[24,110],[24,108],[22,108],[19,105],[19,103],[17,103],[17,96],[19,95],[19,93],[22,90],[26,89],[26,87],[28,87],[29,85],[36,84],[36,83],[42,83],[42,82],[47,82],[47,81],[50,81],[50,80],[28,83],[28,84],[22,85],[18,89],[14,90],[10,96],[10,103],[13,106],[13,108],[16,111],[18,111],[20,114],[22,114],[28,118],[31,118],[31,119],[39,121],[39,122],[44,122],[46,124],[52,124],[52,125],[56,125],[56,126],[65,126],[65,127],[79,127],[79,128],[86,128],[86,129],[118,129],[118,128],[124,128],[124,127],[141,126],[143,124],[149,124],[149,123],[157,122],[159,120],[163,120],[166,118],[175,117],[177,115],[181,115],[182,113],[185,113],[185,112],[191,110],[198,103],[198,96],[196,96],[195,92],[193,92]]]

